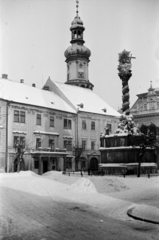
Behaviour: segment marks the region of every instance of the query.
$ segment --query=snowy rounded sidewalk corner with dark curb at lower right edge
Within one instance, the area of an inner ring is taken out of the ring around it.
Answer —
[[[128,210],[128,215],[134,219],[159,224],[159,209],[148,205],[136,205]]]

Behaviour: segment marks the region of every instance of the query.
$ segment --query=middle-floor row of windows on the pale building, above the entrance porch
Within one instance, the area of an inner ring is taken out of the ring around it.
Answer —
[[[25,148],[27,146],[25,146],[25,137],[20,137],[20,136],[14,136],[14,147],[18,147],[21,146],[22,148]],[[95,141],[91,141],[91,150],[95,150]],[[28,146],[29,147],[29,146]],[[41,138],[36,138],[36,149],[41,148],[42,144],[41,144]],[[87,140],[82,140],[82,149],[86,150],[87,149]],[[48,148],[50,148],[51,150],[55,150],[55,141],[54,139],[49,139],[48,142]],[[64,140],[63,141],[63,148],[67,149],[67,151],[72,151],[73,147],[72,147],[72,140]]]

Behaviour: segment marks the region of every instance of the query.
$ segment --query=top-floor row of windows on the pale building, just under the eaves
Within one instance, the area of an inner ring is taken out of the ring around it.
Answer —
[[[14,122],[18,123],[25,123],[26,116],[24,111],[17,111],[14,110]],[[41,125],[42,124],[42,117],[41,114],[36,115],[36,125]],[[64,119],[63,126],[65,129],[72,129],[72,121],[70,119]],[[54,127],[54,117],[50,116],[50,127]],[[82,120],[82,129],[86,130],[87,129],[87,123],[85,120]],[[91,122],[91,130],[95,130],[95,122]]]

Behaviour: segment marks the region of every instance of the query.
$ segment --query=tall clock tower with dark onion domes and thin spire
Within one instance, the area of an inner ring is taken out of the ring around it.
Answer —
[[[70,31],[72,35],[72,44],[68,47],[64,53],[67,63],[67,81],[65,84],[71,84],[83,88],[93,89],[94,85],[89,82],[88,78],[88,64],[91,51],[85,47],[83,44],[83,32],[85,27],[83,22],[78,16],[78,4],[79,1],[76,1],[77,11],[76,17],[71,23]]]

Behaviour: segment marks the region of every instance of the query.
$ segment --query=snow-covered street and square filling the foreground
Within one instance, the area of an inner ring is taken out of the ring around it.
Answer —
[[[0,239],[158,239],[159,225],[127,215],[159,208],[159,177],[0,174]]]

